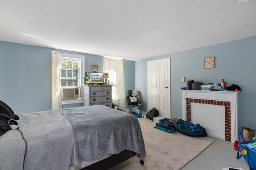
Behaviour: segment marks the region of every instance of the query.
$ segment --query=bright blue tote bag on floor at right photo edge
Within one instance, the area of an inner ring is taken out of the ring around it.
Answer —
[[[242,138],[242,141],[240,141],[241,138]],[[241,131],[238,132],[237,139],[238,139],[237,148],[240,148],[241,154],[239,154],[239,149],[238,149],[236,158],[240,159],[243,156],[250,170],[256,170],[256,148],[247,147],[247,144],[252,143],[253,141],[245,141],[243,133]]]

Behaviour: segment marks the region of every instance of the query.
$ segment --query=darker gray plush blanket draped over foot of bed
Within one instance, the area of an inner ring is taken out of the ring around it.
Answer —
[[[144,140],[138,119],[133,115],[101,105],[72,107],[62,112],[75,129],[72,166],[124,149],[136,152],[144,160]]]

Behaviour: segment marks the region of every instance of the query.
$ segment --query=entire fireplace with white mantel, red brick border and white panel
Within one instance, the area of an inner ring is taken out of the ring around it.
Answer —
[[[217,137],[220,139],[224,139],[226,141],[230,141],[234,143],[237,138],[238,133],[238,94],[239,92],[220,92],[220,91],[200,91],[200,90],[182,90],[182,117],[183,120],[191,121],[191,117],[193,115],[198,116],[197,122],[192,123],[200,123],[201,125],[206,123],[208,126],[209,131],[215,131],[214,128],[221,127],[224,129],[221,129],[220,131],[223,131],[224,134],[217,134],[216,136],[214,134],[209,134],[209,136]],[[202,105],[203,104],[203,105]],[[192,107],[193,105],[193,107]],[[223,109],[218,109],[223,108]],[[200,111],[204,109],[204,111],[209,111],[214,114],[213,116],[217,116],[216,119],[224,119],[221,121],[216,121],[216,127],[211,127],[210,119],[200,119],[202,114],[202,117],[204,117],[204,113],[195,113],[196,111]],[[194,110],[192,110],[194,108]],[[209,109],[207,109],[209,108]],[[216,111],[214,109],[216,108]],[[219,112],[223,113],[219,113]],[[215,113],[218,112],[218,114],[215,115]],[[219,116],[219,117],[218,117]],[[199,121],[199,122],[198,122]],[[209,123],[207,123],[209,121]],[[223,122],[222,126],[218,126],[219,122]],[[211,130],[213,129],[213,130]],[[206,129],[207,131],[207,129]]]

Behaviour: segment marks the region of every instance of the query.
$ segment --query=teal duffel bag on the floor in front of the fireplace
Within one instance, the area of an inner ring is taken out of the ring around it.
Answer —
[[[190,121],[184,121],[182,119],[175,122],[178,127],[178,132],[190,137],[207,137],[206,130],[200,124],[194,125]]]

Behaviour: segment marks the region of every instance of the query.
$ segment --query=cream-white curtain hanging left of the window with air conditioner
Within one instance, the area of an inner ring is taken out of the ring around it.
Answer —
[[[52,51],[52,109],[61,109],[58,52]]]

